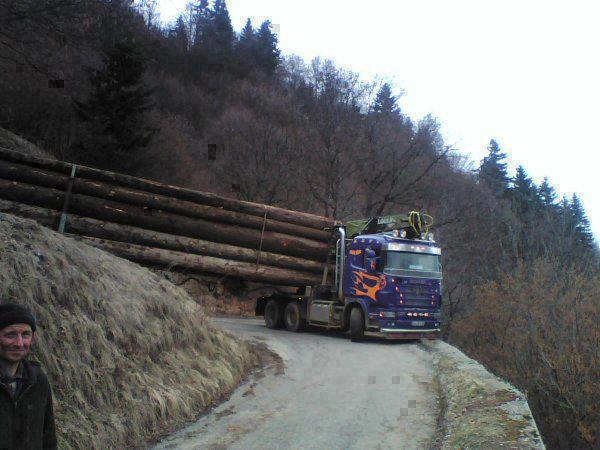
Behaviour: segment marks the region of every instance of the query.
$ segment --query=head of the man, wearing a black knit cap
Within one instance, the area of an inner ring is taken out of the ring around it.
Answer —
[[[18,363],[29,354],[35,318],[31,311],[15,303],[0,305],[0,359]]]

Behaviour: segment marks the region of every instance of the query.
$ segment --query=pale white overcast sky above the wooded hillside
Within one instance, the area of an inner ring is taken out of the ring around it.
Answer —
[[[163,21],[187,0],[158,0]],[[271,20],[280,48],[393,82],[479,161],[495,138],[511,169],[582,198],[600,237],[600,2],[228,0],[234,28]]]

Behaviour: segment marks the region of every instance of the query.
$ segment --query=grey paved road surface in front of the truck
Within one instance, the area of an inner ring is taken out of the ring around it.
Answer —
[[[431,353],[417,343],[352,343],[319,331],[269,330],[262,320],[218,319],[263,342],[271,367],[155,449],[427,449],[437,404]]]

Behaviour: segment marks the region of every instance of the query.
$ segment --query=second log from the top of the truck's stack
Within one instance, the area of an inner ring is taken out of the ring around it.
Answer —
[[[69,180],[69,177],[66,175],[56,172],[2,160],[0,160],[0,178],[61,190],[66,188]],[[192,218],[240,225],[257,230],[262,230],[264,226],[267,231],[302,236],[323,242],[327,242],[331,236],[330,233],[324,230],[316,230],[314,228],[271,220],[268,217],[264,218],[264,216],[258,217],[250,214],[242,214],[213,206],[199,205],[186,200],[166,197],[164,195],[149,194],[148,192],[111,186],[104,182],[89,181],[77,177],[73,179],[72,192],[115,200],[130,205],[160,209]]]

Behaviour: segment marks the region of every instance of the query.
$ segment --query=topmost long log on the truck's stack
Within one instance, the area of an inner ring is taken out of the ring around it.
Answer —
[[[0,148],[0,159],[14,163],[24,164],[30,167],[46,169],[63,175],[70,175],[73,165],[63,161],[40,158],[37,156],[26,155],[5,148]],[[220,195],[194,191],[172,185],[157,183],[151,180],[136,178],[129,175],[123,175],[114,172],[108,172],[100,169],[77,165],[77,174],[80,178],[93,181],[101,181],[114,184],[121,187],[127,187],[145,191],[152,194],[174,197],[180,200],[187,200],[202,205],[222,208],[229,211],[250,214],[258,217],[267,217],[272,220],[287,222],[294,225],[322,230],[332,227],[335,221],[331,218],[317,216],[298,211],[291,211],[274,206],[252,203],[243,200],[226,198]]]

